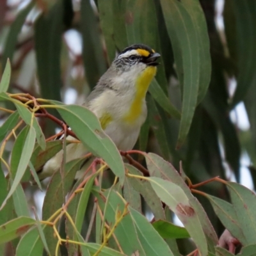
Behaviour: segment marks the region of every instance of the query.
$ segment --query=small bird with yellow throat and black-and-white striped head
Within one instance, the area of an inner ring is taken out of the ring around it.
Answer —
[[[84,106],[99,118],[104,132],[118,150],[131,150],[147,118],[146,93],[157,72],[160,54],[145,44],[126,47],[100,77]],[[67,140],[74,140],[67,136]],[[88,150],[82,143],[70,143],[66,162],[83,157]],[[49,159],[40,170],[40,180],[60,170],[63,150]]]

